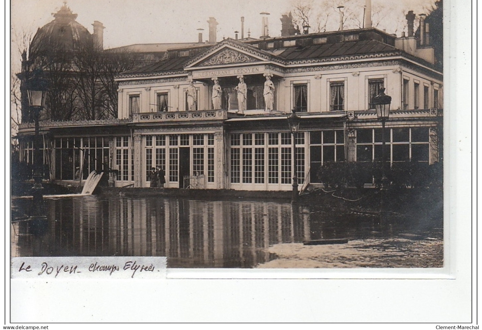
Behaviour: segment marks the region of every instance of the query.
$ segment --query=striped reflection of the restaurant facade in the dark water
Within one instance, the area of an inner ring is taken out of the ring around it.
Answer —
[[[253,267],[268,261],[269,246],[310,237],[308,212],[290,203],[95,196],[48,203],[45,237],[17,227],[19,255],[152,255],[167,256],[169,267]]]

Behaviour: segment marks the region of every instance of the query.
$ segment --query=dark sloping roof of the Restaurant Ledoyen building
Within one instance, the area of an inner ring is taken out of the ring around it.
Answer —
[[[354,32],[360,32],[360,40],[349,40],[349,41],[333,41],[339,40],[334,38],[336,35],[353,35]],[[319,39],[318,42],[322,42],[321,38],[323,36],[328,36],[328,40],[325,38],[325,43],[316,43],[316,38]],[[334,36],[333,38],[330,36]],[[331,39],[330,39],[331,38]],[[234,40],[231,38],[222,40],[211,47],[207,48],[206,44],[194,44],[197,47],[187,46],[184,49],[178,47],[177,49],[170,49],[168,52],[168,59],[162,60],[161,62],[150,64],[144,67],[136,68],[134,70],[122,73],[122,74],[156,74],[169,71],[180,71],[185,68],[190,68],[191,66],[199,65],[199,61],[204,61],[209,59],[211,56],[216,56],[217,51],[221,51],[225,47],[230,47],[233,50],[239,49],[241,52],[249,53],[254,57],[260,59],[265,59],[267,61],[274,61],[279,63],[281,66],[297,64],[300,61],[311,60],[313,63],[320,62],[331,62],[340,60],[346,60],[347,56],[367,56],[379,58],[380,55],[403,55],[410,60],[415,60],[423,65],[432,67],[427,61],[409,55],[399,48],[394,47],[391,41],[394,41],[393,36],[386,34],[385,32],[379,31],[375,28],[365,28],[350,31],[335,31],[329,33],[315,33],[308,35],[296,35],[288,37],[276,37],[263,40],[263,45],[261,46],[261,41],[259,45],[253,42],[244,42],[241,40]],[[300,40],[298,40],[300,39]],[[266,48],[267,42],[269,40],[274,40],[271,46],[276,48]],[[285,40],[296,40],[293,46],[284,46]],[[299,41],[299,42],[298,42]],[[309,42],[307,42],[309,41]],[[388,42],[388,43],[387,43]],[[177,44],[181,46],[181,44]],[[257,46],[260,46],[258,48]],[[184,52],[184,54],[182,54]],[[188,56],[182,56],[186,55]]]

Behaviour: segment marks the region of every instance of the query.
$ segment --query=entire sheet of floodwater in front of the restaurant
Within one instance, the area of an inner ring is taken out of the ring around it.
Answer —
[[[14,200],[27,209],[29,200]],[[48,224],[12,224],[12,256],[167,256],[168,267],[442,267],[442,221],[284,202],[46,199]],[[348,239],[346,244],[303,241]]]

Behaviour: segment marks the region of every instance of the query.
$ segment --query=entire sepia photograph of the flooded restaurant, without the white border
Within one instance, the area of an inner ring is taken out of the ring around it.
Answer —
[[[442,0],[245,2],[11,2],[12,257],[444,267]]]

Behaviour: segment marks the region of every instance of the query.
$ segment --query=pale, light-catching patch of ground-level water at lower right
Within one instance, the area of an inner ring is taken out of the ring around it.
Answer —
[[[258,268],[437,268],[443,267],[443,239],[373,238],[347,244],[276,244]]]

